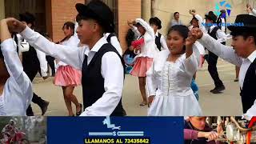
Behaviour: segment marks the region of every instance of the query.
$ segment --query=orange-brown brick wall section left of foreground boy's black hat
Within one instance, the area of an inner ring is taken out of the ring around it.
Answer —
[[[46,0],[46,27],[54,42],[64,38],[63,24],[74,22],[78,14],[74,7],[76,3],[85,3],[85,0]]]

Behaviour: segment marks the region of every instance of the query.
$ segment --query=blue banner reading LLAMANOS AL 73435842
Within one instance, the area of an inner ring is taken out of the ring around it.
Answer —
[[[183,143],[183,117],[49,117],[48,144]]]

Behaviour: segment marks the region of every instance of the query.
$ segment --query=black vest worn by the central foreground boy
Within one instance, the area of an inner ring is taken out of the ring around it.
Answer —
[[[106,52],[113,51],[118,54],[118,51],[109,43],[104,44],[98,52],[94,55],[94,58],[90,61],[87,66],[87,56],[82,63],[82,96],[83,96],[83,105],[84,107],[91,106],[99,98],[102,98],[102,94],[105,93],[104,89],[104,78],[102,77],[102,56]],[[119,58],[124,62],[122,57],[118,54]],[[125,68],[124,73],[125,74]],[[122,98],[118,103],[118,106],[115,108],[111,116],[124,116],[126,115],[125,110],[122,108]]]

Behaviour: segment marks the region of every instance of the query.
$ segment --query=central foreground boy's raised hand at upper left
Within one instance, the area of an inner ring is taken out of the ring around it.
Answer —
[[[26,25],[15,18],[6,18],[6,22],[10,32],[21,33],[26,29]]]

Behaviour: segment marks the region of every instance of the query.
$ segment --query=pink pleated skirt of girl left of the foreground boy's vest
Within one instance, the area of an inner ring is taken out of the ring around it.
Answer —
[[[55,74],[54,85],[56,86],[79,86],[82,82],[81,70],[72,66],[59,66]]]

